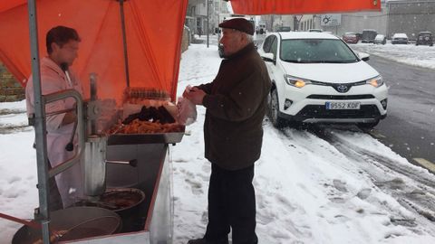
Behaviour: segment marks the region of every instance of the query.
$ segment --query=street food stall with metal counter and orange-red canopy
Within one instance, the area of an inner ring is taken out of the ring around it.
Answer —
[[[139,193],[139,201],[131,206],[137,207],[134,211],[130,208],[127,211],[130,214],[119,213],[123,215],[123,227],[117,224],[118,215],[104,215],[107,218],[102,225],[111,225],[113,230],[87,239],[79,235],[69,241],[171,243],[173,213],[169,145],[181,140],[183,130],[119,135],[113,133],[118,132],[117,129],[97,129],[92,121],[102,116],[99,110],[103,110],[103,99],[114,99],[117,104],[115,110],[121,110],[126,101],[125,91],[129,88],[157,90],[159,94],[166,94],[163,98],[175,101],[181,33],[187,5],[188,0],[9,0],[0,3],[0,60],[23,86],[32,70],[37,104],[34,127],[40,206],[35,219],[41,223],[42,231],[24,227],[15,234],[16,243],[24,243],[20,237],[34,241],[37,238],[33,235],[38,234],[42,236],[43,243],[49,243],[50,230],[53,230],[50,227],[63,230],[77,224],[77,220],[71,220],[70,226],[59,227],[56,226],[59,224],[56,218],[72,219],[74,215],[102,211],[101,205],[95,202],[95,206],[77,207],[77,211],[71,208],[53,212],[52,215],[48,211],[48,177],[77,164],[79,158],[84,160],[85,190],[91,199],[96,194],[104,194],[107,189],[111,190],[111,187],[134,187],[143,194]],[[376,0],[352,1],[349,4],[338,0],[233,0],[232,5],[237,14],[302,14],[380,8]],[[61,24],[73,27],[82,36],[80,58],[73,68],[78,71],[84,86],[91,88],[85,89],[84,99],[73,91],[41,94],[39,53],[45,53],[42,40],[50,28]],[[98,96],[92,90],[98,90]],[[73,159],[47,171],[43,105],[67,97],[76,99],[78,105],[79,150]],[[95,161],[99,164],[92,163]],[[131,214],[131,211],[134,213]],[[131,220],[131,216],[137,218]],[[108,220],[114,223],[109,224]]]

